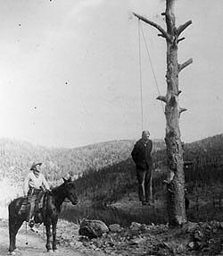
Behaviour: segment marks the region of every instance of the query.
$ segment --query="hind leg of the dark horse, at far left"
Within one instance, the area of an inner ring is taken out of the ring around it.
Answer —
[[[23,219],[15,219],[11,218],[9,219],[9,252],[10,254],[13,254],[14,250],[16,249],[16,235],[18,233],[18,230],[21,228],[21,225],[23,223]]]

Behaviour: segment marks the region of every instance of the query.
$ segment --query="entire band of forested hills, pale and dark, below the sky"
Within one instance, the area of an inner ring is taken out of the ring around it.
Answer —
[[[135,165],[130,152],[135,141],[107,141],[76,149],[47,149],[29,142],[0,140],[0,180],[21,185],[31,164],[43,162],[46,178],[54,183],[63,175],[77,180],[78,194],[94,201],[116,201],[136,190]],[[165,177],[165,143],[154,140],[154,185],[159,191]],[[185,144],[185,160],[194,162],[186,182],[223,182],[223,134]]]

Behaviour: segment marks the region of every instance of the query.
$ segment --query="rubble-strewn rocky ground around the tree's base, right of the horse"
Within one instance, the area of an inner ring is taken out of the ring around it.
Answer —
[[[89,239],[78,235],[78,225],[60,221],[58,240],[86,256],[103,255],[223,255],[223,223],[188,222],[182,228],[132,223],[109,226],[109,232]]]

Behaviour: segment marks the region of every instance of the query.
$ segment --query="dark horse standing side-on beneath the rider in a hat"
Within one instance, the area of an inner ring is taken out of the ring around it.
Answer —
[[[45,248],[47,252],[56,252],[56,226],[59,214],[62,209],[62,202],[69,199],[73,205],[78,204],[76,189],[71,178],[66,180],[63,178],[63,183],[51,190],[44,192],[44,203],[41,209],[40,223],[44,223],[46,231]],[[16,235],[21,228],[21,225],[27,218],[27,210],[21,211],[21,205],[27,200],[25,197],[14,199],[8,206],[9,211],[9,254],[14,255],[16,249]],[[35,216],[36,218],[36,216]],[[52,227],[52,232],[51,232]],[[53,242],[51,238],[53,234]]]

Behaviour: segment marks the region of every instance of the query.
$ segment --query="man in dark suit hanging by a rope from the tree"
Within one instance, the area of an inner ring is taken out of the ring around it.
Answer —
[[[138,196],[142,205],[152,202],[152,166],[151,152],[153,142],[149,139],[150,132],[142,132],[142,138],[136,141],[131,156],[136,164]]]

